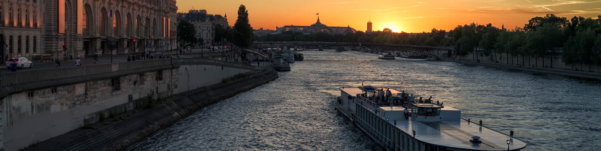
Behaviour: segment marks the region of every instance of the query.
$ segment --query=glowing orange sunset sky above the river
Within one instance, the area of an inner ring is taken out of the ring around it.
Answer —
[[[561,17],[601,15],[601,1],[582,0],[178,0],[178,12],[207,10],[226,14],[231,26],[236,22],[240,4],[246,6],[254,29],[275,26],[308,26],[317,20],[328,26],[347,26],[365,31],[371,15],[374,30],[385,27],[394,32],[429,32],[432,28],[450,30],[458,24],[492,23],[505,28],[523,27],[535,16],[555,14]]]

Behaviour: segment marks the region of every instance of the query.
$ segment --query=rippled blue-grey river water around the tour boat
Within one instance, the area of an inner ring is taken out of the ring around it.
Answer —
[[[528,143],[524,150],[599,150],[601,82],[377,54],[305,51],[280,78],[206,107],[132,150],[379,150],[334,111],[339,87],[432,95],[462,117]]]

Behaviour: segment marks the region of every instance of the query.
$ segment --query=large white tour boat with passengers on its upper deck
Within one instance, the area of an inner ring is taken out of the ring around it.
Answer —
[[[392,100],[377,94],[390,90]],[[444,103],[426,101],[392,88],[339,88],[336,110],[344,119],[385,150],[521,150],[526,143],[513,131],[499,132],[486,122],[461,118],[461,111]],[[349,99],[350,98],[350,99]],[[409,117],[404,116],[404,109]]]

